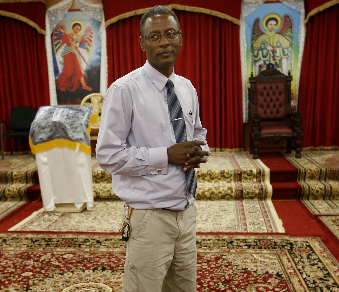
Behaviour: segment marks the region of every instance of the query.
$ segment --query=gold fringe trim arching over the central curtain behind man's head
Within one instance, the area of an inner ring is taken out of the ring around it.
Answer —
[[[231,21],[231,22],[240,26],[240,20],[239,19],[236,19],[232,16],[229,16],[227,14],[224,14],[224,13],[221,13],[221,12],[218,12],[218,11],[215,11],[215,10],[201,8],[201,7],[195,7],[195,6],[179,5],[179,4],[169,4],[169,5],[165,5],[165,6],[168,7],[169,9],[177,9],[177,10],[188,11],[188,12],[205,13],[205,14],[208,14],[208,15],[217,16],[219,18],[226,19],[226,20]],[[135,16],[135,15],[144,14],[149,8],[151,8],[151,7],[142,8],[142,9],[138,9],[138,10],[134,10],[134,11],[130,11],[130,12],[126,12],[126,13],[117,15],[117,16],[111,18],[111,19],[108,19],[105,22],[105,27],[107,27],[108,25],[115,23],[115,22],[117,22],[121,19],[128,18],[128,17]]]

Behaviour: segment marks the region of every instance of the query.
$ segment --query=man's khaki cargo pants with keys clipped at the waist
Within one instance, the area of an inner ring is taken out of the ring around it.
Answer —
[[[176,212],[133,209],[123,292],[196,292],[196,219],[195,205]]]

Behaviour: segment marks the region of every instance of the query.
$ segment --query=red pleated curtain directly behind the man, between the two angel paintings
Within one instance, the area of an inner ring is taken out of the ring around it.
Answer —
[[[183,34],[175,72],[197,90],[209,146],[243,147],[239,26],[203,13],[175,13]],[[139,44],[140,18],[107,27],[108,85],[146,60]]]

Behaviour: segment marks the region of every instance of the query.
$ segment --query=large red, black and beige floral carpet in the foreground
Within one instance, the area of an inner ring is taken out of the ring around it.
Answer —
[[[198,235],[197,291],[339,291],[317,237]],[[121,291],[120,235],[1,234],[0,291]]]

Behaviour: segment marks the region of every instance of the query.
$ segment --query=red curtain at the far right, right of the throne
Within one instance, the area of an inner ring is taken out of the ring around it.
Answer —
[[[298,111],[303,147],[339,146],[339,5],[311,17],[301,66]]]

